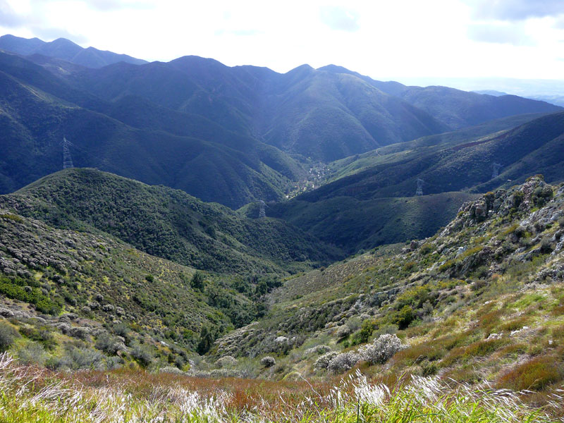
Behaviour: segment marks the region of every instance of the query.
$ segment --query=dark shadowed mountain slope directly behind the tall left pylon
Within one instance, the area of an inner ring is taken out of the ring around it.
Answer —
[[[63,135],[76,166],[92,166],[240,207],[279,200],[302,173],[286,154],[202,116],[144,99],[108,103],[35,63],[0,54],[0,192],[61,168]]]

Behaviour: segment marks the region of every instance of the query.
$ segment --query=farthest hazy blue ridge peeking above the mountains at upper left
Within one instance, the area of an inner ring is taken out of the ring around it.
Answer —
[[[94,47],[84,49],[66,38],[44,42],[39,38],[28,39],[9,34],[2,35],[0,37],[0,50],[12,51],[23,56],[40,54],[42,56],[55,57],[76,65],[86,66],[87,68],[102,68],[120,61],[135,65],[147,63],[147,61],[135,59],[135,57],[128,56],[127,54],[116,54],[112,51],[94,49]]]

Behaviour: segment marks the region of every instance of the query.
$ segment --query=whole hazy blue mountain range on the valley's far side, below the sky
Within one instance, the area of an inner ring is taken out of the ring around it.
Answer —
[[[0,37],[0,48],[17,53],[0,53],[0,193],[59,171],[64,135],[75,166],[239,208],[283,200],[319,163],[563,110],[381,82],[334,65],[282,74],[198,56],[145,63],[66,39],[11,35]],[[82,61],[88,51],[104,63]]]

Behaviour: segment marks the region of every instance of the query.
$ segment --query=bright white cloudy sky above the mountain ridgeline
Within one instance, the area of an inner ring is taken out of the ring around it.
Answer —
[[[278,72],[564,78],[564,0],[0,0],[0,33]]]

